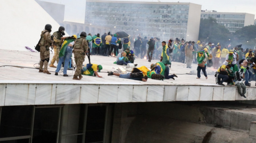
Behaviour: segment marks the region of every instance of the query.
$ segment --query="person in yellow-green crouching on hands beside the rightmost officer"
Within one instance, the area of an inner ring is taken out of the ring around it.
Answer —
[[[82,74],[86,76],[99,76],[98,72],[101,72],[102,66],[101,65],[96,65],[94,63],[87,63],[85,66],[83,65],[83,68],[81,70]]]

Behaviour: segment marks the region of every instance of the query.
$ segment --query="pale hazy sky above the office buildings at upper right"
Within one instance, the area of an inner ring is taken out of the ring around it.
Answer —
[[[105,0],[104,0],[105,1]],[[158,0],[117,0],[117,1],[154,1]],[[242,12],[256,15],[256,0],[159,0],[161,2],[195,3],[202,5],[202,10],[217,12]]]

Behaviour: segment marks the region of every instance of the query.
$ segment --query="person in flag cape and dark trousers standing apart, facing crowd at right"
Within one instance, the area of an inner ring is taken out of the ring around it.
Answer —
[[[204,76],[207,79],[208,77],[207,77],[207,73],[206,73],[206,64],[207,64],[206,62],[209,57],[208,49],[204,48],[203,51],[198,51],[196,54],[197,54],[196,59],[197,59],[198,64],[205,62],[204,67],[197,66],[197,79],[200,79],[200,77],[201,77],[201,74],[200,74],[201,70],[203,71]]]

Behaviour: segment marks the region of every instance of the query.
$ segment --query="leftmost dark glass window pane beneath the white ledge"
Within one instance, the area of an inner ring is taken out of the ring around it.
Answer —
[[[0,138],[30,135],[33,106],[2,107]]]

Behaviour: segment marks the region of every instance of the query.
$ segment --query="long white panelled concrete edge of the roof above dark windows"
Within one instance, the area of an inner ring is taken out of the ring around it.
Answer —
[[[236,86],[0,84],[0,106],[164,101],[255,100],[256,88],[241,97]]]

